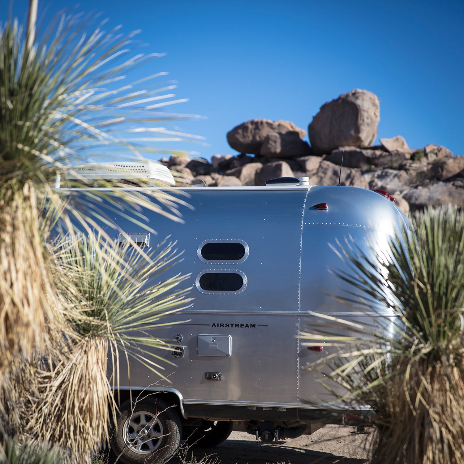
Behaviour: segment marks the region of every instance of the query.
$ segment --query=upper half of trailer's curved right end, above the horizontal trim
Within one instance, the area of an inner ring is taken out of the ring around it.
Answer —
[[[328,210],[312,208],[322,202]],[[300,310],[353,312],[331,296],[353,290],[331,272],[348,271],[331,245],[340,251],[355,244],[378,259],[388,248],[388,238],[404,224],[398,208],[378,193],[355,187],[312,187],[303,217]],[[377,251],[371,251],[371,244]]]

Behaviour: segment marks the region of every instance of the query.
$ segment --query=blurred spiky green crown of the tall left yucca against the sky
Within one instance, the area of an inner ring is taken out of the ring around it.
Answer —
[[[104,22],[93,21],[60,15],[30,51],[17,20],[1,27],[0,180],[42,183],[89,156],[164,151],[146,146],[146,132],[157,135],[149,142],[198,138],[155,125],[179,116],[153,110],[185,101],[166,93],[175,85],[151,84],[167,73],[122,84],[128,71],[160,55],[130,56],[135,33],[105,32]]]

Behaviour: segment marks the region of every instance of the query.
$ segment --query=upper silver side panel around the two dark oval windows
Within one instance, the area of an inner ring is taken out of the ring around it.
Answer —
[[[183,251],[181,261],[166,276],[189,275],[185,286],[192,287],[191,309],[295,311],[298,310],[299,263],[303,204],[308,189],[269,188],[222,190],[216,188],[187,188],[185,199],[192,208],[180,206],[183,224],[159,214],[142,210],[147,225],[157,232],[150,235],[155,247],[169,236],[175,247]],[[147,232],[129,219],[105,209],[125,232]],[[138,230],[140,229],[140,230]],[[106,227],[110,237],[118,231]],[[243,240],[248,247],[246,260],[233,264],[205,263],[198,257],[199,245],[206,240]],[[240,294],[211,295],[201,293],[195,278],[207,269],[242,271],[247,277],[246,289]]]

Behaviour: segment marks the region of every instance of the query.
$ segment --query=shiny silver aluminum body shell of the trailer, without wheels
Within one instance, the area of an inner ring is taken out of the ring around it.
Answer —
[[[378,259],[395,231],[407,227],[407,219],[379,193],[355,187],[189,187],[183,192],[189,194],[186,201],[192,207],[180,205],[183,223],[141,212],[149,220],[147,233],[153,226],[158,232],[156,240],[170,235],[175,247],[184,251],[182,260],[163,278],[185,275],[182,288],[193,288],[191,307],[166,316],[160,327],[147,330],[150,336],[178,348],[181,344],[185,350],[183,357],[175,360],[168,350],[155,353],[176,364],[167,372],[170,385],[187,398],[190,410],[200,415],[203,406],[203,411],[210,412],[214,408],[220,411],[222,405],[245,412],[246,406],[256,406],[261,413],[263,407],[271,407],[276,413],[277,407],[289,412],[333,405],[333,397],[318,381],[321,375],[305,366],[319,356],[335,353],[335,348],[316,337],[303,339],[300,332],[316,333],[322,318],[315,313],[377,326],[385,334],[392,334],[395,324],[395,316],[386,307],[374,304],[367,314],[331,296],[343,296],[347,291],[359,294],[331,273],[349,271],[333,247],[340,250],[353,240],[369,257]],[[328,208],[312,206],[320,204]],[[110,209],[104,213],[115,216]],[[115,238],[121,230],[134,227],[122,215],[117,226]],[[245,252],[239,246],[231,246],[229,251],[227,247],[221,251],[220,246],[203,248],[220,243],[241,245]],[[206,274],[210,275],[201,280]],[[359,336],[350,330],[343,334],[336,328],[329,330],[334,336]],[[181,341],[175,337],[177,331],[182,334]],[[209,339],[199,342],[199,336]],[[220,337],[230,337],[230,350],[218,342]],[[220,373],[223,381],[206,380],[205,373]],[[145,366],[132,361],[130,374],[133,388],[140,390],[158,380]],[[124,375],[121,382],[129,385]],[[169,390],[160,386],[156,391]]]

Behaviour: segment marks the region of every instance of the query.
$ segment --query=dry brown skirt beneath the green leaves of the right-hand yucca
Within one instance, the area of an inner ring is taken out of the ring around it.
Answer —
[[[383,404],[374,419],[372,464],[463,463],[463,366],[420,359],[405,367],[374,393]]]

